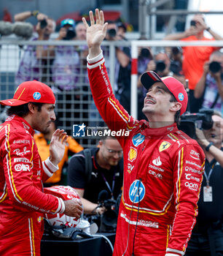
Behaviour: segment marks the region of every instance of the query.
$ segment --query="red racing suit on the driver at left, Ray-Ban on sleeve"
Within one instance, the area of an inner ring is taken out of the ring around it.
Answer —
[[[43,214],[58,210],[58,198],[42,192],[42,180],[48,177],[33,135],[19,116],[0,126],[1,255],[40,255]]]

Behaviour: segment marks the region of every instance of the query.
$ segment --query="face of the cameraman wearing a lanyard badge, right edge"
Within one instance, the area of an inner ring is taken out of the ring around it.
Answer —
[[[214,121],[211,129],[204,129],[203,133],[206,139],[213,142],[215,145],[221,145],[223,140],[223,119],[220,116],[212,116]]]

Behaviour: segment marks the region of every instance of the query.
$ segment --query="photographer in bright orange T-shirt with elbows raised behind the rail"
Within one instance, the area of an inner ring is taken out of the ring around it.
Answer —
[[[204,36],[204,31],[208,31],[212,38]],[[203,15],[195,15],[191,22],[189,29],[182,33],[168,34],[163,38],[164,40],[182,40],[182,41],[208,41],[208,40],[222,40],[222,37],[217,34],[210,26],[206,24]],[[185,79],[189,80],[189,107],[190,112],[196,113],[201,107],[202,100],[198,102],[194,97],[195,86],[203,74],[203,65],[209,60],[211,53],[219,48],[213,46],[185,46],[183,47],[183,72]]]

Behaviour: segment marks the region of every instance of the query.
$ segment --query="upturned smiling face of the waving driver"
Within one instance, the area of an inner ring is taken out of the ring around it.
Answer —
[[[167,87],[161,82],[154,83],[146,94],[142,112],[145,116],[146,114],[166,116],[171,106],[174,104],[174,102],[170,102],[170,100],[171,94],[168,92]]]

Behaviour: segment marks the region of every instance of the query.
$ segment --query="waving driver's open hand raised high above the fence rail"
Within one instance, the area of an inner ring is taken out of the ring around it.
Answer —
[[[87,45],[89,48],[89,57],[93,58],[101,53],[101,42],[106,36],[108,23],[104,23],[103,11],[95,10],[95,19],[93,12],[89,12],[90,26],[88,26],[85,18],[82,18],[87,29]]]

